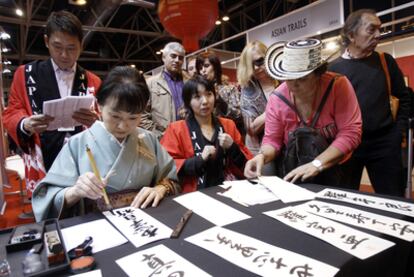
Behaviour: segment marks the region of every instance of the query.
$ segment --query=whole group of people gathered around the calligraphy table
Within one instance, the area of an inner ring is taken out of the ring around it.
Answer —
[[[100,209],[105,193],[118,206],[145,208],[167,195],[260,175],[358,189],[364,167],[376,192],[402,196],[411,94],[393,57],[375,51],[380,27],[374,11],[352,13],[342,52],[314,38],[249,42],[237,83],[223,80],[211,51],[183,70],[185,50],[171,42],[160,73],[145,80],[119,66],[101,84],[77,63],[79,20],[52,13],[50,59],[19,67],[3,114],[24,152],[36,219]],[[43,114],[45,101],[88,94],[96,105],[73,114],[79,126],[48,130],[54,118]],[[399,99],[395,116],[391,95]]]

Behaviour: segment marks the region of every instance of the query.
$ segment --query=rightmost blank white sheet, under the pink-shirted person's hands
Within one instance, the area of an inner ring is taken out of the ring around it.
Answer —
[[[310,190],[289,183],[276,176],[259,177],[262,185],[270,189],[283,203],[314,199],[316,194]]]

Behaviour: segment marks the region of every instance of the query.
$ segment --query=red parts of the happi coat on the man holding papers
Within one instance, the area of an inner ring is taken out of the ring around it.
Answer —
[[[26,188],[28,195],[31,196],[37,182],[46,175],[46,171],[43,164],[39,135],[34,134],[27,143],[20,140],[17,134],[17,128],[20,128],[20,121],[24,117],[29,117],[33,114],[26,91],[24,69],[24,65],[19,66],[14,74],[10,88],[9,103],[3,112],[3,123],[9,136],[24,151],[23,159],[26,173]],[[96,91],[101,85],[101,80],[89,71],[86,71],[86,77],[88,87],[94,87],[94,94],[96,94]]]

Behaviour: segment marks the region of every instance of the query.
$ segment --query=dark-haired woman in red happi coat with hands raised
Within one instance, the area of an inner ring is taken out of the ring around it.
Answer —
[[[234,122],[214,116],[213,83],[195,76],[184,84],[183,100],[188,118],[171,123],[161,139],[174,158],[183,192],[244,178],[244,165],[252,155]]]

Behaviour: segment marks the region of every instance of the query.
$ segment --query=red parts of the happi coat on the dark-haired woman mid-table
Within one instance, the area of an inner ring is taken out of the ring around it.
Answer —
[[[224,128],[224,132],[233,138],[234,143],[239,146],[246,159],[251,159],[253,155],[244,145],[242,137],[234,122],[230,119],[222,117],[219,117],[219,120]],[[180,169],[184,165],[186,159],[194,157],[194,149],[191,143],[190,131],[185,120],[179,120],[171,123],[161,139],[161,144],[168,151],[171,157],[173,157],[177,167],[177,172],[180,172]],[[243,169],[239,169],[233,164],[230,164],[227,170],[238,178],[244,178]],[[185,177],[181,185],[183,192],[196,191],[197,177]]]

